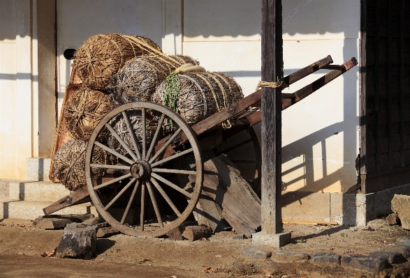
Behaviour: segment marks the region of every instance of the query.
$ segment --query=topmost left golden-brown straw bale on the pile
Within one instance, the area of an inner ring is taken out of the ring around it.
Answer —
[[[104,33],[82,43],[74,55],[73,70],[89,88],[104,90],[126,61],[144,54],[162,53],[149,38]]]

